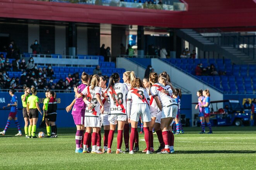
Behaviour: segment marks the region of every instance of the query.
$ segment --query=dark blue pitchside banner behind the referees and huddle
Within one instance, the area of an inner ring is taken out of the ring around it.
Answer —
[[[21,102],[21,95],[24,93],[15,93],[18,100],[18,113],[17,117],[20,123],[20,126],[24,127],[24,119],[22,115],[22,102]],[[39,97],[39,106],[41,110],[43,110],[43,101],[45,98],[45,93],[38,93],[37,96]],[[58,127],[75,127],[73,117],[70,112],[66,112],[66,107],[70,105],[70,103],[75,98],[75,93],[57,93],[56,100],[57,100],[57,120],[56,125]],[[3,110],[3,106],[6,106],[10,103],[11,96],[9,92],[0,92],[0,131],[2,131],[6,125],[7,118],[10,112],[10,108],[5,108]],[[182,95],[181,98],[181,114],[186,115],[186,118],[190,119],[191,123],[191,95]],[[42,121],[42,116],[39,114],[37,126]],[[15,128],[14,121],[11,121],[10,127]]]

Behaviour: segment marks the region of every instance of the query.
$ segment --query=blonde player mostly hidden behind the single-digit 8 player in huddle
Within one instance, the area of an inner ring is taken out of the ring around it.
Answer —
[[[135,78],[136,78],[135,72],[127,71],[123,73],[123,81],[124,81],[124,84],[127,86],[128,90],[130,90],[131,82]],[[128,120],[126,120],[125,127],[124,127],[125,152],[129,152],[129,131],[130,131],[130,125],[128,123]],[[139,138],[139,133],[136,132],[135,147],[134,147],[135,152],[139,150],[138,138]]]

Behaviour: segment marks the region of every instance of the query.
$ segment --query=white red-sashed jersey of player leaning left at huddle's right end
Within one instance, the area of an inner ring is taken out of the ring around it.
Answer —
[[[155,83],[150,88],[152,97],[158,96],[163,107],[170,105],[177,105],[176,101],[171,97],[170,94],[162,93],[161,90],[167,90],[162,84]]]

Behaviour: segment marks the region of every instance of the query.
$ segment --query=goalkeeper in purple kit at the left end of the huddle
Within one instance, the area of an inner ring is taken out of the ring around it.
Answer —
[[[82,84],[80,84],[77,87],[78,93],[81,93],[84,90],[84,88],[86,88],[87,85],[89,85],[89,81],[90,81],[89,75],[83,72],[81,75],[81,81],[82,81]],[[66,111],[69,112],[72,107],[73,107],[72,116],[74,119],[74,123],[77,127],[77,133],[75,134],[75,143],[76,143],[75,153],[82,153],[83,148],[81,146],[81,142],[83,142],[82,138],[85,130],[84,114],[85,114],[85,108],[86,108],[83,98],[77,98],[75,96],[75,99],[73,100],[73,102],[66,107]]]

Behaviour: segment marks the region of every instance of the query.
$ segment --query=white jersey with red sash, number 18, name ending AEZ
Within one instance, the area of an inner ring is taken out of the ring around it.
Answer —
[[[115,83],[114,87],[108,89],[110,101],[109,115],[126,115],[126,96],[128,88],[123,83]]]

